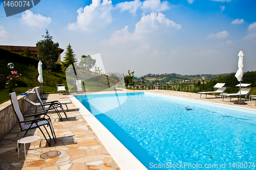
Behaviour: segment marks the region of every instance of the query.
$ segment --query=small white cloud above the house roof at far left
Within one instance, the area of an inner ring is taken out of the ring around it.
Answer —
[[[50,17],[45,17],[40,14],[33,14],[32,11],[26,10],[22,13],[21,23],[27,24],[30,27],[42,28],[46,27],[51,23],[52,19]]]

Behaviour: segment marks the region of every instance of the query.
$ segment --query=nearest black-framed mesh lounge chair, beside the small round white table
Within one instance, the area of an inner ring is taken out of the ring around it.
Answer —
[[[54,142],[56,143],[56,135],[55,135],[55,132],[54,132],[54,129],[52,126],[52,122],[51,122],[50,117],[46,113],[38,113],[38,114],[31,114],[31,115],[24,116],[22,111],[20,110],[19,105],[18,105],[16,93],[15,92],[10,93],[10,98],[11,98],[11,103],[12,103],[14,113],[18,119],[18,124],[19,124],[19,128],[20,128],[18,132],[26,131],[24,134],[24,136],[25,136],[29,130],[39,128],[42,135],[44,135],[48,145],[51,146],[51,136],[50,136],[49,132],[47,131],[47,128],[46,128],[46,125],[47,125],[51,129],[52,137],[54,139]],[[44,117],[40,117],[41,115],[43,115]],[[34,118],[25,120],[25,118],[27,118],[27,117],[34,117]],[[44,132],[42,132],[42,130],[40,128],[41,126],[44,126],[44,128],[50,138],[49,141],[47,140]]]

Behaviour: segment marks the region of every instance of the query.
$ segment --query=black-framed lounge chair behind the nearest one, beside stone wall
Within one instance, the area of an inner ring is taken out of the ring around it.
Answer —
[[[68,118],[67,114],[66,114],[65,110],[63,109],[63,107],[62,107],[60,102],[58,102],[58,101],[51,101],[51,102],[44,103],[44,102],[42,102],[42,100],[40,98],[40,95],[38,93],[37,88],[35,88],[35,93],[36,93],[37,99],[39,100],[39,102],[40,102],[40,104],[42,106],[42,110],[44,110],[47,113],[49,110],[54,109],[56,111],[56,113],[58,114],[60,120],[62,121],[62,117],[61,117],[61,115],[60,115],[60,113],[59,113],[59,111],[57,109],[58,107],[60,107],[62,109],[63,113],[65,114],[66,118]],[[46,106],[48,106],[48,107],[46,107]]]

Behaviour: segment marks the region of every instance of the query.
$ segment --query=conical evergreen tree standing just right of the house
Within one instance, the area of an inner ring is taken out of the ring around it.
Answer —
[[[66,69],[67,67],[70,65],[70,64],[73,64],[75,63],[77,60],[75,58],[75,54],[74,54],[74,51],[73,49],[71,48],[71,45],[69,43],[69,45],[67,46],[67,51],[65,52],[65,57],[63,58],[64,61],[61,61],[61,70],[62,72],[66,72]]]

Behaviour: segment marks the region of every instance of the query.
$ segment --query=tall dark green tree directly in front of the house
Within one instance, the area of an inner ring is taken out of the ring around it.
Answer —
[[[46,70],[51,71],[55,66],[55,63],[58,61],[60,50],[58,49],[59,43],[53,42],[52,36],[49,35],[48,30],[46,29],[46,35],[42,35],[44,40],[37,41],[36,47],[39,53],[39,59],[44,61]]]

